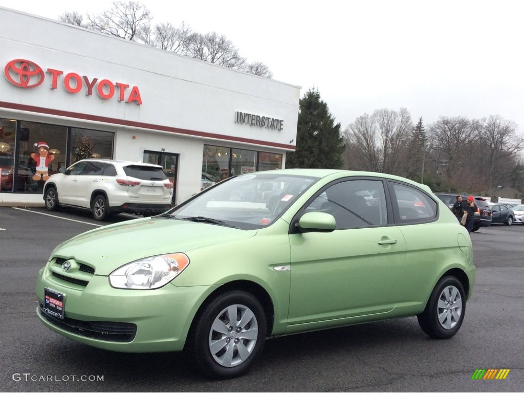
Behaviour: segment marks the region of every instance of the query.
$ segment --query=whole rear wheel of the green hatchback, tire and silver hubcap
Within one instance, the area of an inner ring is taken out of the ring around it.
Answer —
[[[462,283],[454,276],[445,276],[436,283],[428,304],[417,318],[424,333],[435,339],[450,339],[459,331],[465,312]]]

